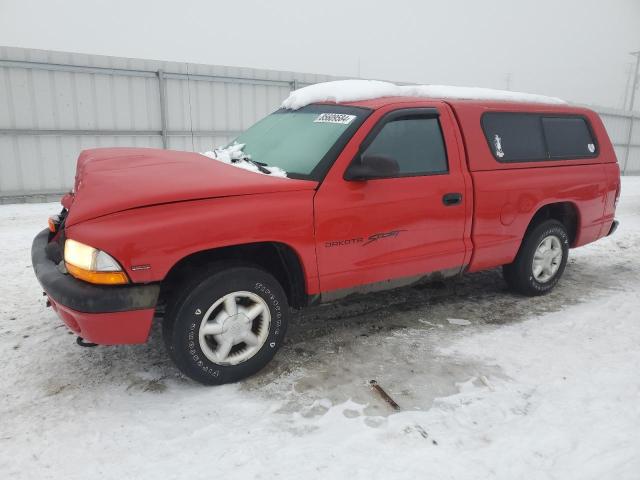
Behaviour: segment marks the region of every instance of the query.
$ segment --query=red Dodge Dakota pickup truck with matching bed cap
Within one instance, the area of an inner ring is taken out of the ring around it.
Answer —
[[[282,108],[206,155],[86,150],[32,246],[48,302],[86,341],[152,319],[205,384],[261,369],[290,308],[502,267],[558,282],[610,235],[620,172],[597,114],[568,105],[385,97]]]

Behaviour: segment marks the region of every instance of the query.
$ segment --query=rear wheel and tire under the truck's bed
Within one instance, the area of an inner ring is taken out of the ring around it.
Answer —
[[[530,297],[544,295],[560,280],[568,257],[567,229],[557,220],[547,220],[529,231],[502,274],[511,290]]]

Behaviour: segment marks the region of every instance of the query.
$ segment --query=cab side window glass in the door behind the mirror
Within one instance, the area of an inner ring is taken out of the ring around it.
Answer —
[[[398,162],[400,177],[447,173],[447,153],[437,118],[408,117],[387,122],[365,150]]]

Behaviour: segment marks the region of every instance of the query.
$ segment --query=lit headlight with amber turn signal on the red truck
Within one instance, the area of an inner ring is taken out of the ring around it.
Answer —
[[[71,275],[85,282],[104,285],[129,283],[122,267],[111,255],[75,240],[64,242],[64,263]]]

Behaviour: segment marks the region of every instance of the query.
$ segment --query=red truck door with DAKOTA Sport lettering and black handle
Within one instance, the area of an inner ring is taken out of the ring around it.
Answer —
[[[347,145],[314,199],[322,292],[453,273],[465,263],[470,199],[453,115],[445,104],[376,114],[369,133],[359,145]],[[394,159],[399,173],[343,178],[354,158],[373,154]]]

